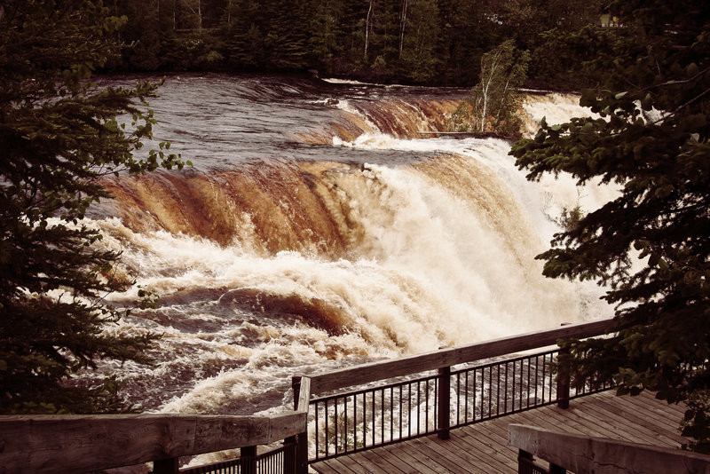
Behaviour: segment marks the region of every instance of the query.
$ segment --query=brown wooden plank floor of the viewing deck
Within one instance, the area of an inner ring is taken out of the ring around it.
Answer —
[[[643,393],[615,397],[612,391],[572,400],[567,410],[551,406],[436,435],[379,447],[311,465],[322,474],[517,473],[517,449],[508,445],[510,423],[615,438],[653,446],[679,447],[684,409]]]

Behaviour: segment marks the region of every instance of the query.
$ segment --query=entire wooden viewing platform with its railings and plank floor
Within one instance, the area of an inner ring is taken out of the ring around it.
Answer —
[[[274,415],[0,416],[0,471],[710,474],[710,456],[679,449],[682,406],[554,374],[558,341],[611,328],[598,320],[296,375],[294,409]]]

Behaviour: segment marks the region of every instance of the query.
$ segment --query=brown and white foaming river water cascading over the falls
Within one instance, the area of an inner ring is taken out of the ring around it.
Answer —
[[[529,183],[500,139],[418,138],[465,91],[222,75],[160,91],[156,133],[194,169],[107,179],[91,216],[119,276],[162,296],[108,329],[163,334],[155,367],[102,367],[139,407],[280,409],[291,375],[608,315],[534,256],[550,217],[611,191]],[[526,110],[555,100],[572,107]]]

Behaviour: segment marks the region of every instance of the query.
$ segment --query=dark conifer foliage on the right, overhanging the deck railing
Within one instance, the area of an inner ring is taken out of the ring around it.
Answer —
[[[600,179],[619,197],[582,213],[539,256],[549,277],[597,280],[616,305],[609,338],[572,341],[578,383],[688,401],[683,433],[708,451],[710,393],[710,4],[611,5],[618,28],[588,36],[580,104],[598,118],[545,124],[511,154],[529,171]]]

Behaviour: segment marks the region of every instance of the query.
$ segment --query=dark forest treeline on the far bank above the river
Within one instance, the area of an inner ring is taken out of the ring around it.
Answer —
[[[575,88],[602,0],[107,0],[126,22],[118,71],[303,72],[471,85],[504,40],[529,51],[529,80]]]

